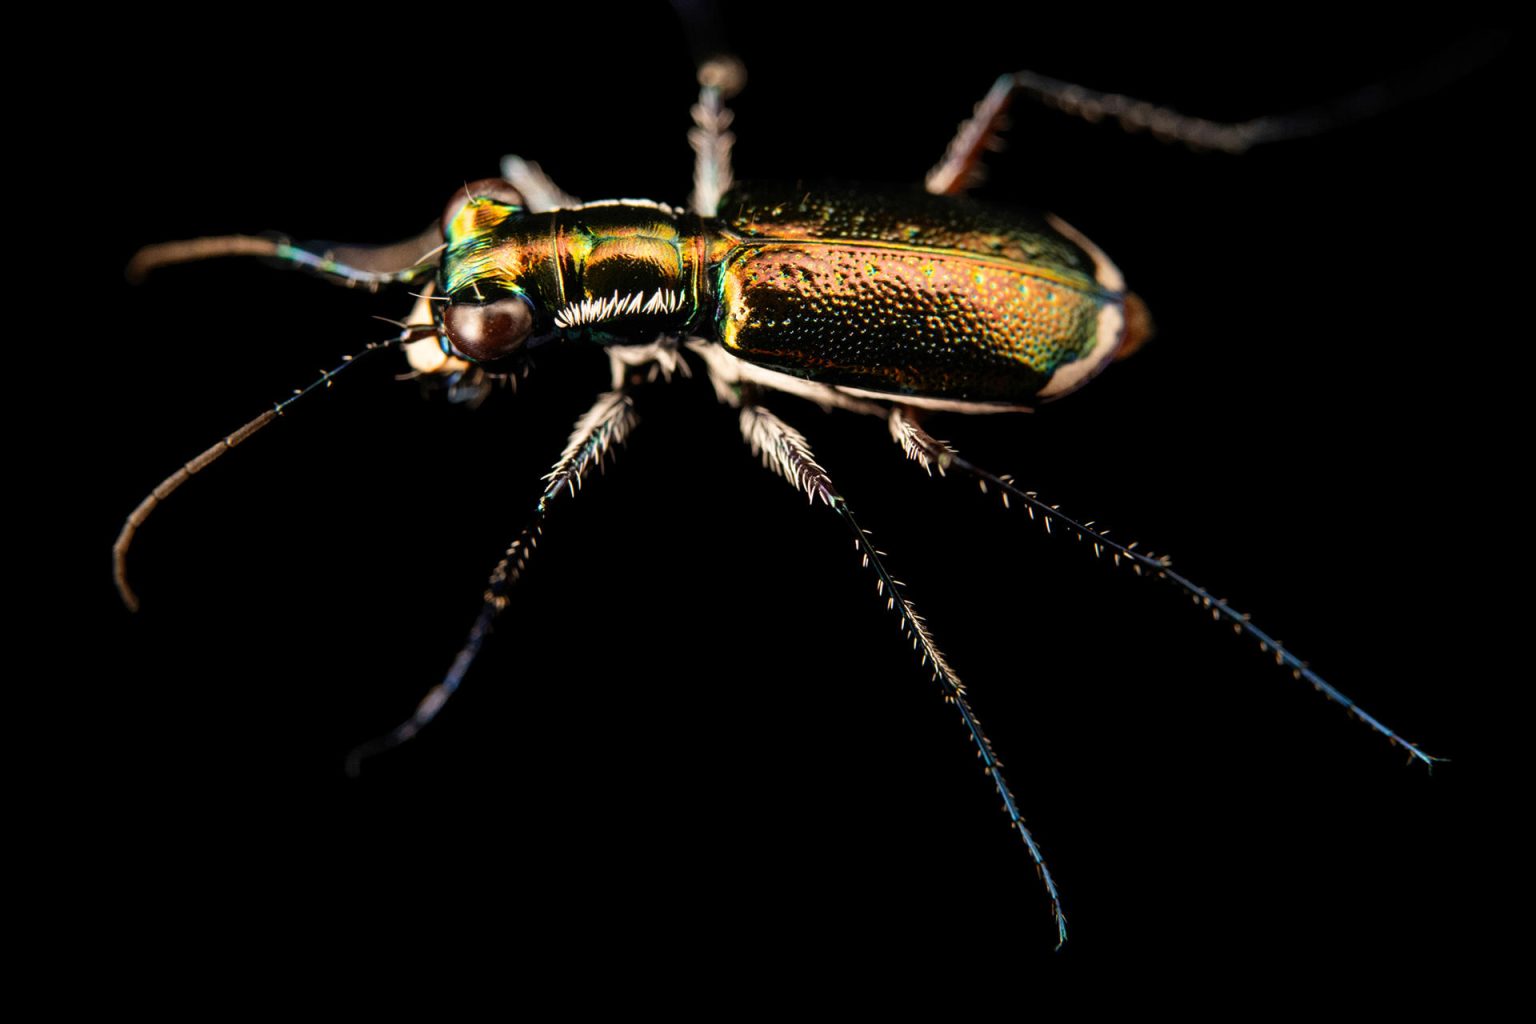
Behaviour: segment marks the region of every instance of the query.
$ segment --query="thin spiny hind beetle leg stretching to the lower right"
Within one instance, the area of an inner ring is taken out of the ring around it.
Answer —
[[[1369,714],[1326,679],[1312,671],[1306,662],[1287,651],[1278,640],[1275,640],[1275,637],[1253,625],[1246,614],[1213,596],[1209,590],[1200,586],[1187,576],[1175,573],[1166,556],[1144,554],[1135,550],[1135,543],[1120,543],[1118,540],[1111,540],[1106,530],[1095,528],[1092,522],[1072,519],[1063,513],[1060,507],[1043,502],[1035,491],[1021,490],[1014,484],[1012,477],[998,476],[997,473],[983,470],[974,462],[968,462],[948,442],[935,441],[928,434],[928,431],[917,425],[909,410],[902,407],[891,410],[891,433],[895,436],[902,448],[906,450],[908,457],[920,464],[923,468],[937,468],[940,473],[946,468],[963,470],[980,481],[983,491],[989,484],[998,488],[1003,494],[1003,505],[1009,504],[1009,497],[1023,502],[1031,519],[1035,519],[1037,516],[1041,519],[1046,533],[1051,533],[1051,525],[1055,524],[1066,528],[1068,533],[1075,534],[1080,540],[1089,540],[1094,545],[1095,556],[1103,557],[1104,554],[1109,554],[1117,567],[1121,562],[1126,562],[1137,573],[1137,576],[1154,576],[1157,579],[1169,580],[1183,590],[1190,600],[1201,608],[1206,608],[1212,619],[1217,622],[1226,620],[1232,623],[1232,628],[1236,633],[1256,640],[1258,649],[1266,654],[1273,654],[1275,663],[1283,668],[1289,668],[1293,679],[1312,683],[1312,688],[1319,694],[1342,706],[1372,729],[1387,737],[1390,743],[1405,749],[1409,754],[1422,761],[1425,768],[1433,769],[1436,761],[1447,760],[1444,757],[1425,754],[1418,746],[1409,743],[1401,735],[1389,729],[1375,715]]]

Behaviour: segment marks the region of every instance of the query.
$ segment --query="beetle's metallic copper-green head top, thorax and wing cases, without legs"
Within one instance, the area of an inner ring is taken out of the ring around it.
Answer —
[[[714,218],[482,200],[447,226],[439,287],[524,296],[542,341],[696,336],[848,395],[969,411],[1066,395],[1126,336],[1120,272],[1074,229],[922,192],[746,186]]]

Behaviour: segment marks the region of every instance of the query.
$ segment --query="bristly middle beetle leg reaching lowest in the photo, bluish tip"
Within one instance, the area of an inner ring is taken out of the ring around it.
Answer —
[[[746,439],[746,444],[751,445],[753,453],[762,456],[763,465],[779,473],[779,476],[786,479],[796,490],[805,491],[813,504],[820,499],[828,508],[842,517],[842,520],[848,525],[848,530],[854,534],[854,550],[859,551],[865,567],[876,574],[876,588],[880,596],[885,597],[886,608],[900,617],[902,631],[912,640],[912,646],[919,651],[923,665],[932,671],[934,682],[937,682],[943,689],[945,700],[954,705],[960,712],[960,720],[965,723],[966,732],[971,735],[971,742],[975,743],[977,755],[982,758],[982,766],[992,778],[992,786],[997,789],[997,795],[1003,800],[1003,811],[1008,812],[1009,823],[1018,831],[1018,837],[1029,849],[1029,857],[1035,861],[1035,870],[1040,875],[1040,881],[1044,884],[1046,894],[1051,897],[1051,913],[1055,917],[1057,923],[1057,949],[1060,949],[1060,944],[1066,941],[1066,917],[1061,913],[1061,898],[1060,894],[1057,894],[1055,880],[1051,877],[1051,869],[1046,867],[1044,855],[1040,852],[1035,837],[1029,834],[1028,827],[1025,827],[1025,818],[1018,812],[1018,803],[1014,800],[1014,794],[1008,788],[1008,781],[1003,778],[1003,765],[997,760],[997,754],[992,751],[992,742],[986,738],[986,732],[982,729],[982,722],[975,717],[975,711],[971,709],[971,700],[966,697],[965,685],[949,666],[948,659],[945,659],[943,652],[934,643],[934,637],[928,631],[928,623],[920,614],[917,614],[917,608],[914,608],[912,602],[902,593],[900,580],[891,576],[889,570],[885,568],[880,551],[876,550],[874,543],[869,540],[869,534],[866,534],[854,519],[852,511],[848,508],[848,502],[843,500],[843,496],[833,487],[833,481],[826,474],[826,470],[816,462],[816,456],[811,454],[811,445],[806,442],[805,436],[750,399],[742,404],[740,424],[742,436]]]

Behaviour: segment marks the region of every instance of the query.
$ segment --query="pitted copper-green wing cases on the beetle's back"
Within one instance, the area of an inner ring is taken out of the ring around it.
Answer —
[[[1123,295],[1041,215],[955,197],[743,186],[720,203],[716,336],[782,373],[1026,402],[1098,342]]]

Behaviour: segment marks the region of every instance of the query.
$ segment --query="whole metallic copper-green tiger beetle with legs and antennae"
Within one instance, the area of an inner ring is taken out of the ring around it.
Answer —
[[[1051,215],[972,201],[983,154],[1011,103],[1021,97],[1092,120],[1192,147],[1241,152],[1310,135],[1375,114],[1358,97],[1287,117],[1224,124],[1020,72],[1005,75],[977,104],[929,172],[923,190],[842,184],[737,184],[727,100],[743,81],[730,60],[699,72],[688,141],[696,155],[685,207],[642,200],[581,203],[536,163],[507,157],[499,178],[468,183],[441,218],[396,246],[298,244],[276,236],[217,236],[149,246],[131,276],[210,256],[253,255],[341,284],[415,293],[398,333],[359,356],[401,350],[410,375],[450,401],[478,404],[499,381],[527,375],[559,345],[601,347],[610,388],[581,416],[559,454],[530,524],[492,574],[485,600],[444,679],[396,729],[358,748],[362,760],[430,723],[459,688],[508,590],[522,576],[547,516],[568,504],[636,427],[642,391],[660,379],[702,373],[716,398],[737,410],[745,445],[837,516],[899,622],[975,748],[1009,827],[1040,877],[1057,943],[1066,913],[1051,860],[1026,826],[1028,797],[1001,763],[951,660],[888,568],[805,434],[777,411],[788,395],[825,410],[885,419],[891,442],[928,474],[957,476],[1001,499],[1044,531],[1130,573],[1170,583],[1206,614],[1247,637],[1298,682],[1347,708],[1369,729],[1428,766],[1433,755],[1355,705],[1289,648],[1161,554],[1058,507],[1011,476],[972,462],[931,433],[940,413],[1028,411],[1071,395],[1152,336],[1152,313],[1109,255]],[[329,387],[358,356],[218,441],[169,476],[132,511],[114,547],[123,600],[137,597],[127,553],[151,513],[192,474],[280,418],[300,398]]]

